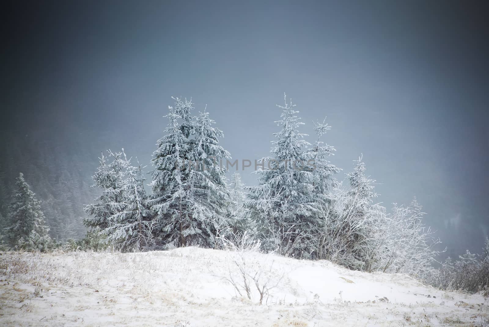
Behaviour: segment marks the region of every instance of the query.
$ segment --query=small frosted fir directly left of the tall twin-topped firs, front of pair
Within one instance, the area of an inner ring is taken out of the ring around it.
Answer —
[[[124,197],[104,230],[107,243],[122,251],[140,251],[154,244],[142,168],[141,165],[127,168],[122,186]]]

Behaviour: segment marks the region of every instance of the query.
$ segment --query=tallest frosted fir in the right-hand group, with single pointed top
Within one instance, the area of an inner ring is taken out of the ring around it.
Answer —
[[[248,187],[246,207],[259,226],[259,237],[267,250],[296,257],[310,257],[315,249],[306,244],[313,238],[311,230],[317,225],[315,196],[311,183],[310,159],[305,150],[310,145],[298,128],[303,125],[297,117],[295,105],[287,103],[284,94],[281,120],[276,121],[281,131],[274,133],[271,156],[263,158],[266,167],[259,175],[258,186]]]

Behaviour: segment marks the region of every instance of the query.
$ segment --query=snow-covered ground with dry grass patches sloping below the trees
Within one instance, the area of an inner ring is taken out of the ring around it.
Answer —
[[[252,252],[0,256],[0,326],[487,326],[488,304],[402,274]]]

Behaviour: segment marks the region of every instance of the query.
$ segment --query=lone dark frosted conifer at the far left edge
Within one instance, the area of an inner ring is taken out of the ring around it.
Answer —
[[[6,229],[6,234],[11,245],[17,245],[19,241],[27,240],[31,233],[34,233],[33,235],[36,237],[44,238],[49,231],[41,211],[41,202],[36,199],[23,176],[20,173],[16,179],[18,189],[12,196],[9,206],[10,213],[7,217],[9,226]]]

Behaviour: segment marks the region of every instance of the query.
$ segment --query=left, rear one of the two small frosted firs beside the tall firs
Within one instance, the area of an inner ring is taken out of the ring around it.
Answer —
[[[109,218],[121,209],[120,203],[124,200],[123,181],[129,166],[124,149],[119,153],[111,150],[107,152],[112,161],[108,163],[109,159],[102,153],[100,166],[92,177],[95,182],[92,187],[102,189],[102,194],[95,199],[96,203],[85,206],[84,211],[89,216],[83,219],[87,227],[99,227],[102,230],[109,226]]]

